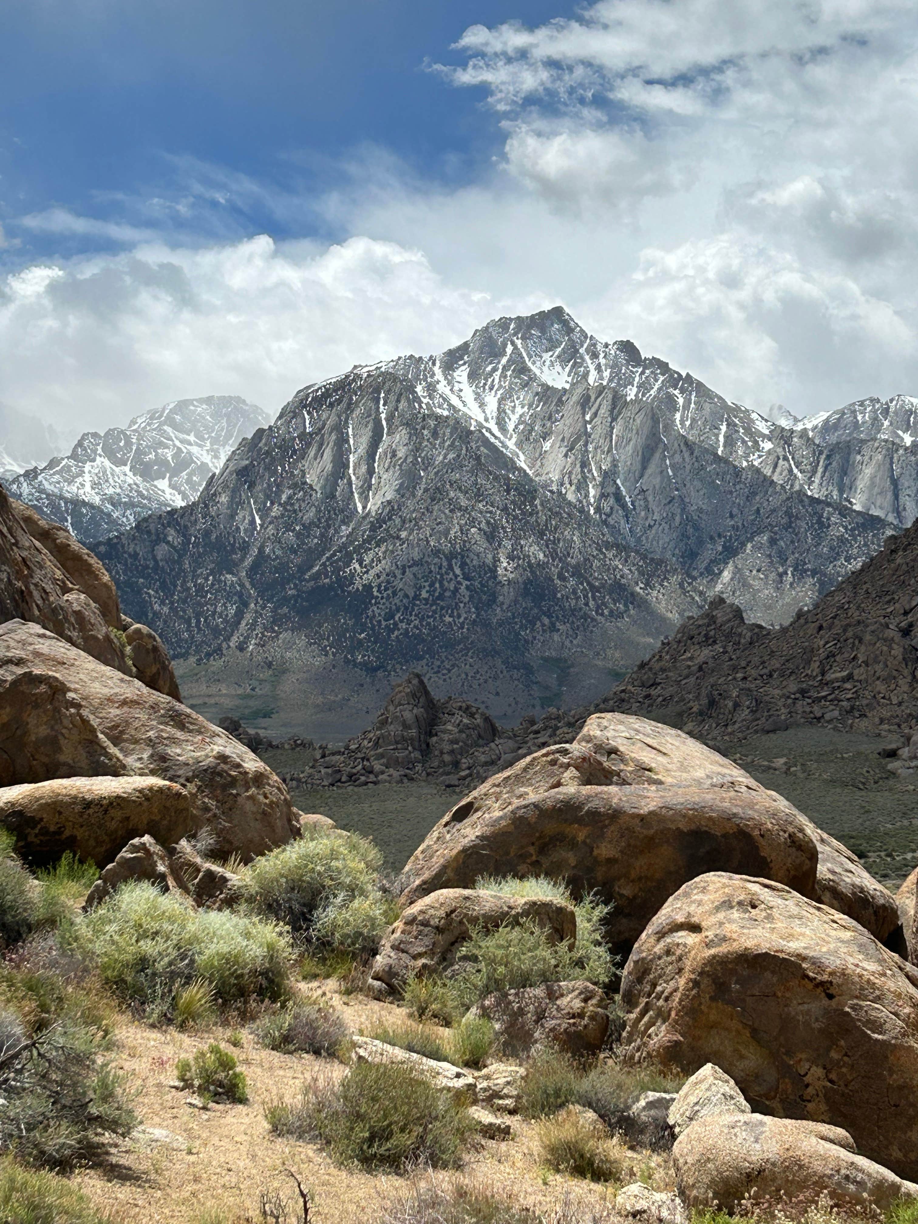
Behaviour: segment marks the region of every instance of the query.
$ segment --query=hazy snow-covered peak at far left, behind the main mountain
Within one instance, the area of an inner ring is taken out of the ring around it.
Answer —
[[[269,421],[239,395],[174,400],[124,430],[83,433],[65,458],[7,475],[4,483],[88,543],[193,501],[242,438]]]

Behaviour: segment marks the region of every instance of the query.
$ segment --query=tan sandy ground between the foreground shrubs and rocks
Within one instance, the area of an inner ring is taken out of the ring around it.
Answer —
[[[353,1032],[372,1029],[390,1020],[392,1006],[361,995],[341,996],[335,983],[308,983],[301,989],[322,993],[339,1006]],[[246,1105],[213,1104],[208,1110],[186,1104],[188,1093],[170,1087],[175,1062],[218,1040],[225,1049],[230,1029],[213,1027],[193,1033],[149,1028],[125,1020],[119,1031],[116,1066],[138,1092],[141,1130],[119,1144],[108,1165],[77,1174],[73,1181],[94,1204],[119,1224],[211,1224],[223,1219],[259,1222],[263,1190],[295,1192],[285,1173],[295,1173],[313,1200],[315,1224],[372,1224],[387,1202],[406,1193],[411,1181],[393,1175],[371,1175],[341,1169],[319,1144],[277,1138],[263,1118],[266,1103],[299,1095],[301,1084],[328,1059],[278,1054],[263,1049],[244,1032],[234,1054],[248,1086]],[[344,1075],[340,1064],[332,1064]],[[557,1207],[563,1200],[589,1208],[608,1207],[614,1190],[543,1169],[539,1162],[536,1124],[512,1119],[513,1137],[506,1142],[476,1140],[466,1152],[461,1175],[481,1180],[536,1209]],[[635,1153],[635,1166],[652,1169],[656,1189],[668,1181],[665,1157]],[[426,1176],[431,1176],[430,1173]],[[436,1174],[449,1179],[453,1174]],[[224,1213],[220,1217],[219,1213]],[[295,1218],[295,1217],[294,1217]]]

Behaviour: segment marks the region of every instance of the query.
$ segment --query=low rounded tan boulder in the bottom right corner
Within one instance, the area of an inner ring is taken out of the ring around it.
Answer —
[[[837,1126],[720,1114],[695,1122],[673,1147],[679,1197],[689,1208],[717,1204],[732,1213],[747,1197],[814,1203],[825,1196],[838,1208],[887,1211],[918,1186],[863,1155]]]

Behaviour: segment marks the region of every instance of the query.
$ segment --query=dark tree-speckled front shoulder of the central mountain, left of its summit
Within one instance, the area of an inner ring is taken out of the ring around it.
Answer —
[[[700,599],[386,370],[305,390],[196,503],[97,552],[180,655],[218,659],[230,687],[273,676],[305,706],[344,689],[329,709],[355,728],[341,670],[375,692],[422,667],[523,710],[546,660],[595,693]]]

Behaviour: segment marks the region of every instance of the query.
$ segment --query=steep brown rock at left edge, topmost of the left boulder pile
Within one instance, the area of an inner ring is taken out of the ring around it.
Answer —
[[[18,513],[20,504],[0,488],[0,622],[40,624],[78,650],[129,672],[127,659],[118,639],[109,634],[104,613],[48,548],[33,539]],[[32,523],[37,517],[27,510],[27,518]],[[73,545],[81,550],[76,540]],[[104,592],[99,594],[104,599]]]

